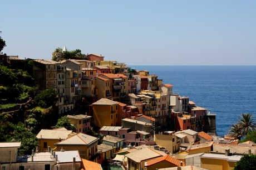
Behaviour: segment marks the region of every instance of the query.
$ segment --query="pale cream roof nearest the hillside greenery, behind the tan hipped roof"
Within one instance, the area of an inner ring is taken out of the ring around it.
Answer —
[[[37,138],[49,139],[49,140],[65,140],[72,131],[66,130],[66,128],[56,129],[42,129],[38,134]]]

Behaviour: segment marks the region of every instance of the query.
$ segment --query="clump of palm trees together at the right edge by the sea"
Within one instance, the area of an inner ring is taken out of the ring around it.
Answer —
[[[235,140],[241,140],[242,137],[255,130],[254,122],[253,114],[242,114],[242,116],[239,116],[237,123],[229,128],[228,135],[234,137]]]

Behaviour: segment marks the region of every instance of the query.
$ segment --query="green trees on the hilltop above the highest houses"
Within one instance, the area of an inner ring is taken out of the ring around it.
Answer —
[[[56,48],[55,51],[52,53],[52,60],[53,61],[62,61],[68,59],[79,59],[85,60],[87,56],[81,53],[80,49],[76,49],[73,51],[63,51],[62,48]]]

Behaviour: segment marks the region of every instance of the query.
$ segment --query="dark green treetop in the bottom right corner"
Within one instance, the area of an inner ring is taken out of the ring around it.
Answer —
[[[255,154],[245,154],[242,158],[235,163],[234,170],[255,170],[256,169],[256,155]]]

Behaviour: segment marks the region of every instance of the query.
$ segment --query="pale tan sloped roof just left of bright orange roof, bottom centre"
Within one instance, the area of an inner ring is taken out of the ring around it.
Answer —
[[[141,162],[147,159],[160,157],[162,155],[147,147],[141,150],[137,150],[136,152],[127,153],[125,156],[135,162]]]

